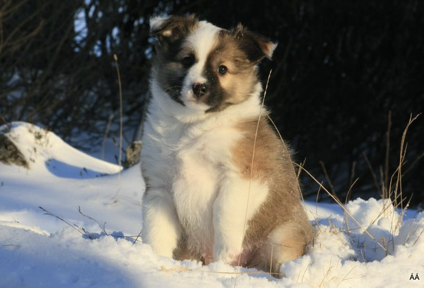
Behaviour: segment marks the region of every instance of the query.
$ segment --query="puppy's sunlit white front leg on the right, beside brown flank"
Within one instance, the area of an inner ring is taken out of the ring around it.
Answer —
[[[213,257],[232,265],[243,252],[248,221],[268,195],[268,186],[239,176],[223,180],[213,204]]]

